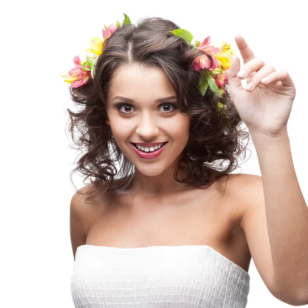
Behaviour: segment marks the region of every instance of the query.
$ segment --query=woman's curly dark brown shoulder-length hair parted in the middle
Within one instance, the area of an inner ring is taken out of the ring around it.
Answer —
[[[195,57],[204,52],[192,50],[185,40],[169,32],[179,28],[161,17],[141,18],[136,25],[123,24],[105,41],[94,79],[89,78],[78,88],[70,87],[72,101],[81,108],[78,112],[67,109],[69,131],[78,149],[86,149],[77,167],[71,171],[70,179],[72,182],[76,170],[85,176],[84,182],[90,177],[92,188],[87,191],[86,202],[93,195],[102,196],[106,191],[121,189],[133,177],[133,164],[120,150],[105,122],[112,73],[122,64],[138,63],[163,70],[177,93],[177,107],[191,116],[189,140],[174,174],[176,181],[207,188],[223,176],[228,179],[228,172],[238,167],[237,157],[241,153],[246,155],[247,144],[243,146],[241,141],[249,140],[249,131],[240,128],[243,121],[230,98],[228,86],[225,88],[227,109],[219,114],[219,97],[210,88],[204,96],[201,94],[198,86],[200,72],[192,69]],[[207,56],[212,65],[211,56]],[[74,128],[80,132],[77,139]],[[228,164],[224,167],[226,161]],[[116,162],[120,165],[119,170],[115,167]],[[187,174],[186,178],[177,178],[179,169]]]

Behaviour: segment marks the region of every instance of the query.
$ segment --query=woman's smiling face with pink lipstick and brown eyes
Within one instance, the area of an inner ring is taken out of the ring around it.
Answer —
[[[190,118],[177,109],[176,92],[158,68],[119,67],[110,83],[106,111],[106,123],[119,148],[146,176],[161,174],[188,142]],[[162,148],[152,145],[162,142]],[[148,144],[137,149],[136,143]]]

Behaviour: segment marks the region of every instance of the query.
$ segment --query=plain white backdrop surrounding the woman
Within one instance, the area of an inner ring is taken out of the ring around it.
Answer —
[[[239,32],[256,57],[290,73],[296,98],[288,135],[298,181],[308,200],[307,15],[299,1],[2,4],[2,307],[73,308],[69,203],[74,189],[69,173],[77,153],[69,148],[65,133],[65,109],[72,103],[60,73],[74,67],[73,56],[85,60],[92,37],[102,37],[104,24],[122,23],[123,12],[132,23],[143,16],[168,18],[189,30],[194,41],[210,35],[213,45],[227,41],[237,55],[234,35]],[[249,148],[252,156],[238,172],[261,175],[255,148]],[[78,175],[73,180],[78,188],[85,185]],[[269,293],[253,260],[249,275],[247,308],[288,306]]]

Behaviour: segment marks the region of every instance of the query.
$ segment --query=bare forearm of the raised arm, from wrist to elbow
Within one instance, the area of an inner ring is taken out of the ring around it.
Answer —
[[[252,134],[261,169],[274,275],[286,292],[308,297],[308,208],[287,133],[279,138]]]

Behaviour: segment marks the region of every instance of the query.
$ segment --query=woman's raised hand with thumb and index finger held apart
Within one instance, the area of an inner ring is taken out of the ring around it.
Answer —
[[[233,55],[227,70],[230,95],[234,105],[249,132],[279,137],[286,132],[295,98],[295,85],[286,70],[276,69],[257,59],[241,35],[235,40],[243,58],[243,78],[238,76],[240,59]],[[268,78],[267,83],[261,80]],[[247,79],[247,85],[253,83],[251,90],[241,85],[241,79]]]

